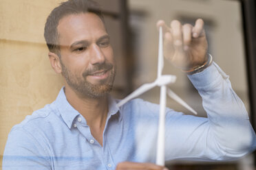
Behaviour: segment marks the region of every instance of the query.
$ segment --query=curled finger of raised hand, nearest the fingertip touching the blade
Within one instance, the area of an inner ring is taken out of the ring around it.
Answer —
[[[171,22],[171,34],[174,47],[182,47],[182,25],[179,21],[174,20]]]

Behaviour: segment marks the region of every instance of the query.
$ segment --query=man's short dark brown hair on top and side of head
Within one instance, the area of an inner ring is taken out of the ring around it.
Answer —
[[[100,17],[104,23],[103,15],[101,14],[100,5],[92,0],[69,0],[61,3],[58,7],[54,8],[50,15],[47,17],[45,23],[45,41],[49,51],[56,53],[59,57],[60,47],[58,45],[58,23],[64,16],[70,14],[80,14],[92,12]]]

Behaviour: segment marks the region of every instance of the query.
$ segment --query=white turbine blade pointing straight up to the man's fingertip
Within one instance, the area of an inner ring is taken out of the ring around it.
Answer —
[[[164,68],[164,54],[162,47],[162,27],[159,27],[159,42],[158,42],[158,77],[162,75],[162,69]]]

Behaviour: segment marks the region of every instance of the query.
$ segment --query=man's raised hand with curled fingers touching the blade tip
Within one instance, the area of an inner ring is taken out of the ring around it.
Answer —
[[[158,21],[157,27],[162,26],[164,35],[164,57],[174,66],[189,71],[207,61],[208,48],[204,21],[198,19],[195,25],[171,21],[168,27],[164,21]]]

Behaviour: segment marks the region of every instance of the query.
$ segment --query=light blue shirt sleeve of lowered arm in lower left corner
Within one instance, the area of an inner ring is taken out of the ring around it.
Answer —
[[[51,158],[22,127],[13,127],[3,154],[3,170],[50,170]]]

